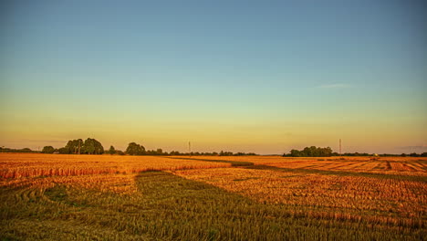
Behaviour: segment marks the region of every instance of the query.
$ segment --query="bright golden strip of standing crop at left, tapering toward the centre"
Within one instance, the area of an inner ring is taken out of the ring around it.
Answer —
[[[140,173],[230,165],[154,156],[0,153],[0,177],[3,178]]]

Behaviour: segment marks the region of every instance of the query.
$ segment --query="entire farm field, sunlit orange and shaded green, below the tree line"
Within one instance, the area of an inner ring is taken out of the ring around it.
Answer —
[[[427,158],[0,154],[10,240],[422,240]]]

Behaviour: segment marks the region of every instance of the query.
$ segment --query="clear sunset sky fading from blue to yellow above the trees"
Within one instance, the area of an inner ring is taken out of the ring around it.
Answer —
[[[2,1],[0,146],[427,152],[422,1]]]

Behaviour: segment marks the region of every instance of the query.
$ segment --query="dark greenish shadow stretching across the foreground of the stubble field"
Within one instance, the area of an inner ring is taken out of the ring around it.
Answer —
[[[234,182],[239,181],[245,180]],[[406,219],[397,230],[392,220],[377,216],[337,216],[343,210],[261,203],[167,172],[138,173],[135,184],[136,193],[130,195],[62,185],[44,194],[0,188],[0,239],[420,240],[425,230],[425,225]],[[46,198],[33,200],[33,195]],[[40,225],[46,227],[43,236],[34,231]],[[60,238],[67,234],[75,237]]]

